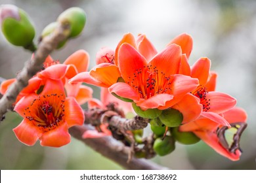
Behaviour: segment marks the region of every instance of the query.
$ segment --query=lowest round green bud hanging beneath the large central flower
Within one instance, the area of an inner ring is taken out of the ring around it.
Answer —
[[[165,156],[175,150],[175,140],[173,137],[166,135],[163,140],[161,138],[156,139],[153,148],[156,154]]]

